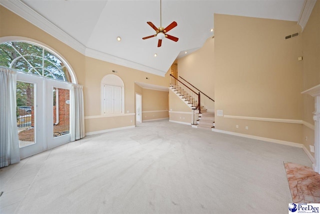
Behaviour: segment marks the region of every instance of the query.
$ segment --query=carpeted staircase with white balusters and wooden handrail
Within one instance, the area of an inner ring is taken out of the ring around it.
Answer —
[[[169,89],[192,109],[192,127],[208,130],[214,128],[214,112],[206,112],[206,109],[200,107],[200,92],[194,92],[175,77],[170,76]]]

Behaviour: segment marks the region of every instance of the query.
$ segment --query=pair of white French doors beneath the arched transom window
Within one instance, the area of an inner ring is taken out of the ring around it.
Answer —
[[[20,158],[70,141],[71,84],[17,74],[17,128]]]

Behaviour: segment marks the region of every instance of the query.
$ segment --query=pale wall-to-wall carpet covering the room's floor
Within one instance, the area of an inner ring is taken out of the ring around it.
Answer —
[[[167,120],[44,154],[16,213],[287,213],[283,161],[311,166],[301,148]]]

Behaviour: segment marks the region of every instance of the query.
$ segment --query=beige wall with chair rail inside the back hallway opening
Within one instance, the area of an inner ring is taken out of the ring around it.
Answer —
[[[168,92],[142,89],[142,122],[168,118]]]

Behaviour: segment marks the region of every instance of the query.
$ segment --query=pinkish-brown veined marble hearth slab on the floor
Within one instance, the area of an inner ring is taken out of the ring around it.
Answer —
[[[320,174],[295,163],[284,164],[294,203],[320,203]]]

